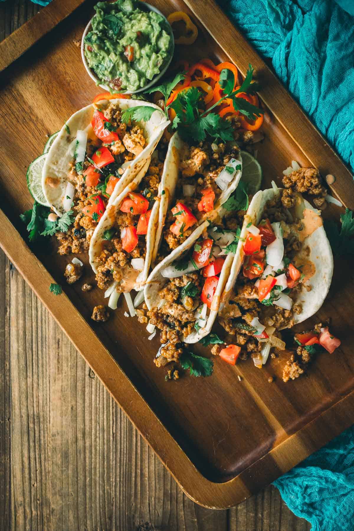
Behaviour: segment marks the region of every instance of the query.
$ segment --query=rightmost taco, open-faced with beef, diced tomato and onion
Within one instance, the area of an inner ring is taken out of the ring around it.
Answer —
[[[278,331],[320,309],[333,273],[321,212],[297,192],[287,208],[272,184],[249,204],[218,317],[258,366],[272,346],[284,349]]]

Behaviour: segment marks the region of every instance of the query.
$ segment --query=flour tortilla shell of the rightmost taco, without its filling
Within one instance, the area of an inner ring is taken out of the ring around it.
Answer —
[[[237,277],[240,273],[245,253],[243,245],[247,236],[247,225],[258,225],[263,217],[263,211],[266,203],[272,199],[276,199],[279,196],[280,189],[274,185],[274,189],[260,190],[257,192],[251,203],[249,204],[246,216],[244,218],[243,226],[241,229],[240,239],[237,245],[234,260],[232,262],[230,276],[226,282],[225,291],[222,295],[220,311],[227,303],[237,282]],[[303,218],[303,212],[305,209],[312,210],[318,216],[321,212],[316,210],[308,201],[306,201],[301,194],[296,194],[297,204],[290,210],[293,218]],[[315,274],[304,284],[309,284],[312,289],[307,292],[306,289],[302,289],[295,297],[293,297],[293,303],[300,303],[303,307],[303,311],[298,315],[294,314],[293,319],[295,324],[301,323],[316,313],[322,306],[324,299],[329,292],[331,286],[331,280],[333,275],[333,255],[330,242],[326,236],[323,224],[316,228],[312,234],[304,239],[302,244],[303,249],[308,247],[309,254],[306,258],[313,262],[316,268]]]

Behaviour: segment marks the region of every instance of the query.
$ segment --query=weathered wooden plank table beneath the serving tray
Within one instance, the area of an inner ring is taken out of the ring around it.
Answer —
[[[37,11],[0,3],[0,40]],[[189,500],[2,251],[0,515],[33,531],[310,529],[272,486],[226,511]]]

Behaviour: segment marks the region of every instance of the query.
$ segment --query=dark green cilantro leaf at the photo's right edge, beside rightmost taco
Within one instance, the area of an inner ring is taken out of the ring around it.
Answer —
[[[343,254],[354,254],[354,218],[353,212],[346,208],[346,212],[341,215],[341,229],[338,230],[337,224],[328,220],[324,223],[327,238],[330,241],[334,256]]]

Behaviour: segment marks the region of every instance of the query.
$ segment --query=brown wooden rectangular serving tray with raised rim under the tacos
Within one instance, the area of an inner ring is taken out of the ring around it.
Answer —
[[[248,63],[256,68],[266,108],[265,140],[257,155],[264,187],[272,179],[280,184],[282,170],[295,159],[302,166],[317,166],[322,175],[334,174],[332,193],[353,208],[349,170],[217,5],[212,0],[151,3],[165,14],[187,11],[197,23],[196,44],[177,47],[179,56],[231,60],[242,74]],[[92,5],[84,2],[2,74],[0,245],[184,492],[205,507],[224,509],[262,489],[354,422],[352,272],[349,263],[335,264],[329,296],[308,326],[331,316],[341,347],[333,355],[319,355],[307,376],[288,383],[281,379],[287,357],[271,360],[262,370],[251,359],[235,367],[214,359],[211,378],[185,375],[165,382],[165,371],[153,364],[158,338],[147,341],[144,326],[124,316],[123,301],[107,323],[91,321],[92,307],[103,303],[103,294],[98,289],[83,293],[82,282],[68,286],[63,273],[71,257],[59,256],[52,241],[45,249],[30,248],[19,215],[31,208],[25,172],[42,152],[46,135],[99,92],[74,42],[81,38]],[[331,205],[324,216],[338,220],[342,211]],[[93,280],[88,257],[81,259],[83,281]],[[49,292],[51,282],[62,285],[61,296]],[[202,347],[193,348],[207,354]],[[267,382],[269,376],[275,376],[273,383]]]

